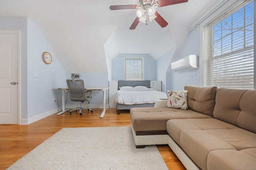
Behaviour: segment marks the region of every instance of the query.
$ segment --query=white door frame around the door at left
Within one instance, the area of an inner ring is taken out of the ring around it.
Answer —
[[[18,53],[17,53],[17,75],[18,75],[18,77],[17,77],[17,88],[18,88],[18,91],[17,91],[17,120],[18,120],[18,122],[17,122],[17,124],[18,125],[20,125],[21,124],[21,105],[20,105],[20,92],[21,92],[21,90],[20,90],[20,85],[21,85],[21,76],[20,76],[20,73],[21,73],[21,65],[20,65],[20,57],[21,57],[21,55],[20,55],[20,45],[21,45],[21,42],[20,42],[20,30],[1,30],[0,29],[0,33],[6,33],[6,34],[17,34],[18,35],[18,39],[17,39],[17,45],[18,45],[18,47],[17,47],[17,51],[18,51]]]

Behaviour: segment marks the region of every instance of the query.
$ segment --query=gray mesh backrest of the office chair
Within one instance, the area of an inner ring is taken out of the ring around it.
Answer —
[[[69,98],[71,101],[82,102],[85,101],[84,80],[66,80],[68,84]]]

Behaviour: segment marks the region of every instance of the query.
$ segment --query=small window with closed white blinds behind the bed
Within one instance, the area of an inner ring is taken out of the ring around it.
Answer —
[[[144,80],[143,57],[124,58],[124,80]]]

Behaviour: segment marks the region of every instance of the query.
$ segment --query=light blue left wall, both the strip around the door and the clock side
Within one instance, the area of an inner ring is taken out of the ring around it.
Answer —
[[[44,38],[39,27],[27,17],[0,17],[0,29],[21,31],[20,56],[20,112],[21,119],[29,119],[57,109],[54,98],[61,101],[55,88],[64,86],[66,73]],[[42,61],[42,53],[53,57],[51,64]],[[38,77],[33,72],[38,72]]]

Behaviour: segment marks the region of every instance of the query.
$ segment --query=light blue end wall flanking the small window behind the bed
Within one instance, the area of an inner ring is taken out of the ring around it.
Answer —
[[[156,60],[150,56],[145,57],[144,73],[144,80],[156,80]],[[112,60],[112,80],[124,80],[124,57],[122,56],[118,55]]]

